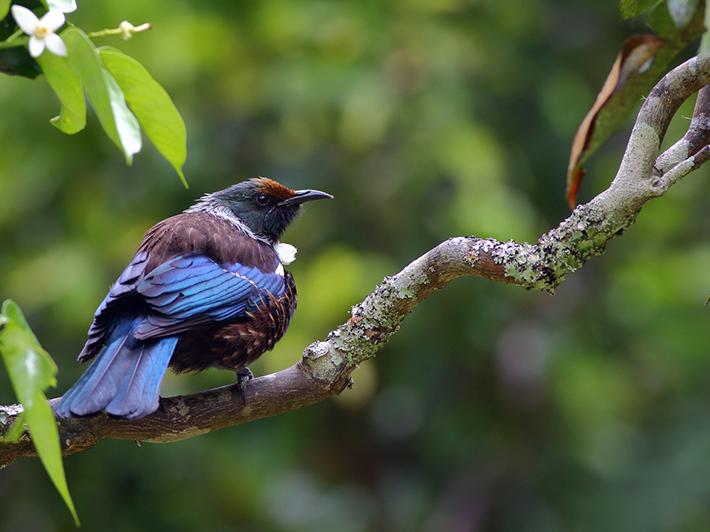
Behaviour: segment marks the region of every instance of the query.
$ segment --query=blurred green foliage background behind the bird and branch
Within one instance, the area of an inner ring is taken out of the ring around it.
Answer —
[[[334,193],[285,239],[299,311],[257,374],[295,362],[387,274],[460,234],[534,240],[568,212],[571,138],[625,36],[598,0],[79,1],[86,29],[168,88],[190,190],[95,118],[47,120],[46,84],[0,78],[0,297],[60,367],[143,232],[266,175]],[[690,53],[690,52],[689,52]],[[688,124],[692,101],[669,138]],[[589,165],[614,175],[628,134]],[[649,204],[553,297],[460,280],[342,397],[171,445],[66,459],[85,530],[695,531],[710,523],[709,172]],[[231,382],[169,377],[163,394]],[[13,396],[0,376],[0,401]],[[70,531],[37,460],[0,471],[0,530]]]

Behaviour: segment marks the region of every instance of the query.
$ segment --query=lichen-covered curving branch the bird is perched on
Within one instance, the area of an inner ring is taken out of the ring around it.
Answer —
[[[338,394],[350,384],[350,375],[358,364],[373,357],[419,303],[458,277],[481,277],[553,292],[568,273],[602,254],[610,239],[633,224],[647,201],[663,195],[708,158],[708,83],[710,57],[690,59],[669,72],[644,101],[609,188],[578,206],[535,244],[451,238],[398,274],[385,278],[353,308],[346,323],[325,340],[309,345],[297,364],[250,381],[244,401],[233,385],[164,398],[158,411],[138,420],[105,414],[58,420],[64,454],[86,450],[106,438],[173,442],[295,410]],[[698,90],[688,133],[656,158],[671,118]],[[0,406],[0,435],[21,412],[19,405]],[[36,456],[27,435],[16,443],[0,444],[0,467],[26,456]]]

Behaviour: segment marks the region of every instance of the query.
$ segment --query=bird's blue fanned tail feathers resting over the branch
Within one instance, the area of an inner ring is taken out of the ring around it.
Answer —
[[[158,408],[163,375],[177,337],[136,340],[133,333],[142,318],[120,322],[105,346],[55,407],[60,417],[105,411],[136,419]]]

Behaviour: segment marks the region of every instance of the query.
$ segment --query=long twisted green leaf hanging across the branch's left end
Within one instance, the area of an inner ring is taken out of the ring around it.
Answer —
[[[78,526],[79,518],[64,475],[57,423],[44,395],[46,388],[56,385],[57,366],[39,345],[22,311],[13,301],[3,303],[0,317],[3,322],[0,355],[7,367],[12,388],[22,403],[24,422],[29,427],[42,465]]]

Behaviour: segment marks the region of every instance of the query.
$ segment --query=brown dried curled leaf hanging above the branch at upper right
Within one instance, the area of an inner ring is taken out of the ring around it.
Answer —
[[[632,35],[624,42],[604,86],[599,91],[594,105],[579,125],[572,141],[569,166],[567,167],[567,203],[571,209],[577,203],[577,192],[585,173],[582,163],[589,155],[588,148],[592,144],[592,138],[597,134],[595,125],[599,113],[610,98],[622,91],[631,79],[641,76],[649,70],[656,54],[663,46],[663,42],[663,39],[650,33]],[[602,132],[602,134],[608,136],[607,132]]]

